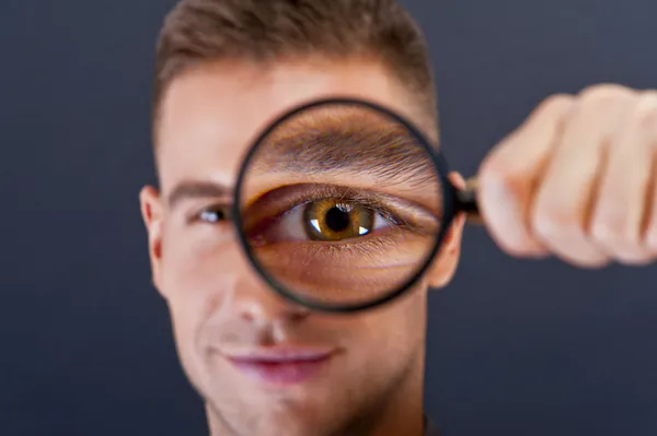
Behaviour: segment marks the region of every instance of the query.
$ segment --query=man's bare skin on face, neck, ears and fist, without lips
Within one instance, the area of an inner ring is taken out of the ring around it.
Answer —
[[[215,436],[423,433],[427,288],[451,280],[463,216],[416,288],[351,316],[281,299],[249,266],[229,224],[188,220],[230,204],[243,154],[274,117],[335,95],[372,101],[427,126],[404,89],[364,59],[208,63],[174,80],[162,102],[161,186],[142,189],[141,211],[152,280]],[[552,255],[580,267],[654,261],[656,126],[652,92],[598,85],[548,98],[481,166],[479,201],[492,237],[512,256]],[[188,180],[216,189],[171,204],[171,192]],[[458,175],[452,180],[463,184]],[[226,358],[280,344],[324,346],[335,356],[321,377],[285,387],[249,379]]]

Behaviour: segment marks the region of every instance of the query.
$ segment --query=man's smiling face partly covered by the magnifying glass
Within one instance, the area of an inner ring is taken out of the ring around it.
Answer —
[[[426,291],[451,278],[460,228],[406,296],[376,310],[327,315],[273,293],[231,224],[212,212],[231,203],[242,158],[263,128],[293,106],[332,96],[364,98],[418,119],[391,75],[360,60],[208,64],[177,78],[162,102],[161,190],[145,188],[141,209],[153,281],[215,428],[330,434],[383,406],[394,414],[404,401],[422,401]]]

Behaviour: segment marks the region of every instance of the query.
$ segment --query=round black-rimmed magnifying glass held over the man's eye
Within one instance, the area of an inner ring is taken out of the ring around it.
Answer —
[[[358,99],[277,118],[249,150],[234,192],[239,239],[278,294],[313,310],[370,309],[412,290],[454,217],[476,219],[410,121]]]

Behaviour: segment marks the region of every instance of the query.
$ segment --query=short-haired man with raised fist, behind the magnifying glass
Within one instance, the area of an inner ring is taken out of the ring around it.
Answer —
[[[427,290],[450,281],[463,217],[417,291],[350,316],[270,292],[226,219],[255,134],[287,109],[336,95],[387,106],[437,140],[425,40],[393,0],[183,0],[164,23],[153,119],[160,187],[141,191],[141,211],[153,282],[214,436],[430,432]],[[597,85],[549,97],[479,172],[491,235],[518,257],[652,262],[656,144],[654,92]],[[321,361],[312,375],[267,376],[308,355]]]

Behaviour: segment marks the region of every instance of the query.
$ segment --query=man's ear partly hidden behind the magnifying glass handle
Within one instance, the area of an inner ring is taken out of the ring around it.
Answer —
[[[451,173],[449,178],[457,189],[465,187],[465,180],[459,173]],[[427,273],[429,287],[445,287],[454,276],[461,259],[461,241],[465,217],[465,214],[458,215],[445,235],[440,251]]]

